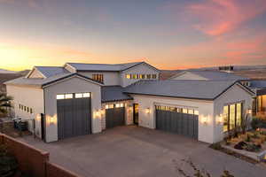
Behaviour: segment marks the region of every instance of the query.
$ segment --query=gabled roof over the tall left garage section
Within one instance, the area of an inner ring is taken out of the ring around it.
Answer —
[[[92,82],[95,82],[99,85],[102,85],[101,82],[94,81],[94,80],[92,80],[86,76],[83,76],[81,74],[78,74],[78,73],[59,73],[57,75],[51,76],[49,78],[44,78],[44,79],[20,77],[18,79],[12,80],[12,81],[6,81],[6,82],[4,82],[4,84],[43,88],[43,87],[50,85],[56,81],[61,81],[61,80],[64,80],[64,79],[72,77],[72,76],[78,76],[78,77],[81,77],[81,78],[86,79],[88,81],[92,81]]]

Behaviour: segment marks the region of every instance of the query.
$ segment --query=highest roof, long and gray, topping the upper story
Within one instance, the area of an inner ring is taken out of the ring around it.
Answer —
[[[140,64],[146,64],[146,63],[145,62],[134,62],[134,63],[125,63],[125,64],[66,63],[66,65],[71,65],[77,72],[90,72],[90,71],[121,72]],[[153,67],[153,69],[158,70],[155,67]]]

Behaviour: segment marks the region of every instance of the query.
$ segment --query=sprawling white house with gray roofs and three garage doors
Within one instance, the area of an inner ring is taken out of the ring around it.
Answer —
[[[45,142],[138,125],[219,142],[252,106],[254,92],[237,80],[159,80],[145,62],[35,66],[5,82],[15,117]],[[225,119],[227,118],[227,119]]]

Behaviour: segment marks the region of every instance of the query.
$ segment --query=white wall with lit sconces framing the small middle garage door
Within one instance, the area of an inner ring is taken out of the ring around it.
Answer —
[[[125,125],[133,124],[133,102],[131,100],[121,102],[108,102],[102,104],[101,125],[102,130],[106,129],[106,104],[125,104]]]

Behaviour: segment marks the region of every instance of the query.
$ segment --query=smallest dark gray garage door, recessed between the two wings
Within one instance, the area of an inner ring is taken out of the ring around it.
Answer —
[[[125,125],[125,107],[115,107],[106,109],[106,128]]]

